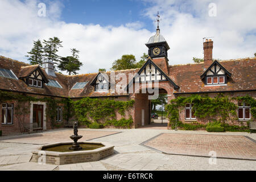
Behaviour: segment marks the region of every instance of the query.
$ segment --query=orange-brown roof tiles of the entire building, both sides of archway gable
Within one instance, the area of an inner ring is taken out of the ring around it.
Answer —
[[[204,64],[184,64],[184,65],[171,65],[169,66],[169,77],[180,86],[180,93],[193,93],[193,92],[216,92],[216,91],[234,91],[234,90],[256,90],[255,77],[256,77],[256,58],[237,59],[229,61],[219,61],[226,69],[232,73],[232,77],[228,78],[228,84],[225,86],[205,86],[200,76],[204,73]],[[11,69],[16,76],[23,77],[37,66],[30,66],[29,64],[22,63],[0,56],[0,68]],[[98,73],[90,73],[83,75],[67,76],[56,73],[56,77],[47,75],[42,69],[44,75],[51,80],[56,80],[63,87],[63,89],[55,88],[52,86],[44,85],[43,88],[35,88],[28,86],[23,80],[15,80],[11,78],[0,77],[0,89],[13,90],[18,92],[44,94],[47,96],[58,97],[106,97],[106,96],[128,96],[123,93],[110,93],[110,92],[94,92],[94,86],[90,82],[97,76]],[[123,71],[115,71],[115,75],[124,73],[127,76],[127,84],[129,83],[129,74],[135,75],[139,69],[128,69]],[[106,72],[110,77],[110,72]],[[115,81],[115,85],[120,80]],[[83,89],[73,89],[72,87],[76,82],[88,82]]]

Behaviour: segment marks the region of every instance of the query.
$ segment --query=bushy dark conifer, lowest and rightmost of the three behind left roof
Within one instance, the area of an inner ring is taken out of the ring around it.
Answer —
[[[71,49],[72,56],[61,57],[58,68],[61,71],[67,71],[68,75],[76,75],[76,71],[79,71],[82,66],[82,63],[79,61],[79,52],[80,51],[75,48]]]

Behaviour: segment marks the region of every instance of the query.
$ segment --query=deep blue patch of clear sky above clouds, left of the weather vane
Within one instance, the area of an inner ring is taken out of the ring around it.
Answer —
[[[131,22],[143,22],[143,27],[153,31],[152,20],[143,15],[150,3],[137,0],[63,0],[61,20],[66,23],[121,26]]]

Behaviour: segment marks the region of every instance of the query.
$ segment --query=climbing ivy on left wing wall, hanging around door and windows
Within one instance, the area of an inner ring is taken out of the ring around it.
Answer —
[[[51,126],[56,126],[56,106],[59,104],[64,104],[63,109],[63,118],[68,121],[70,117],[69,113],[69,102],[71,101],[70,98],[62,98],[61,100],[55,100],[54,98],[43,97],[43,98],[36,98],[32,96],[27,96],[27,94],[16,94],[13,92],[5,92],[0,90],[0,103],[6,101],[15,100],[18,104],[14,107],[15,117],[18,119],[19,128],[22,132],[23,123],[24,123],[24,114],[29,113],[30,104],[26,106],[27,102],[46,102],[46,116],[47,120],[51,121]]]

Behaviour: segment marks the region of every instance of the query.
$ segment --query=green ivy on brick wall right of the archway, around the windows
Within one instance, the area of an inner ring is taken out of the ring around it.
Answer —
[[[187,125],[179,121],[179,112],[181,109],[185,108],[186,104],[193,104],[192,110],[195,111],[196,118],[208,119],[210,122],[219,121],[225,124],[226,121],[238,120],[237,117],[237,104],[236,102],[247,102],[251,106],[251,116],[256,118],[256,100],[250,96],[243,97],[233,97],[224,96],[224,94],[218,94],[216,97],[200,96],[198,94],[193,94],[188,97],[180,96],[170,101],[170,104],[166,106],[168,111],[168,116],[170,119],[171,127],[177,125],[180,127],[189,128]],[[228,127],[227,125],[225,125]],[[205,127],[201,125],[193,125],[192,128]],[[236,126],[237,127],[237,126]],[[230,130],[233,130],[230,128]]]

